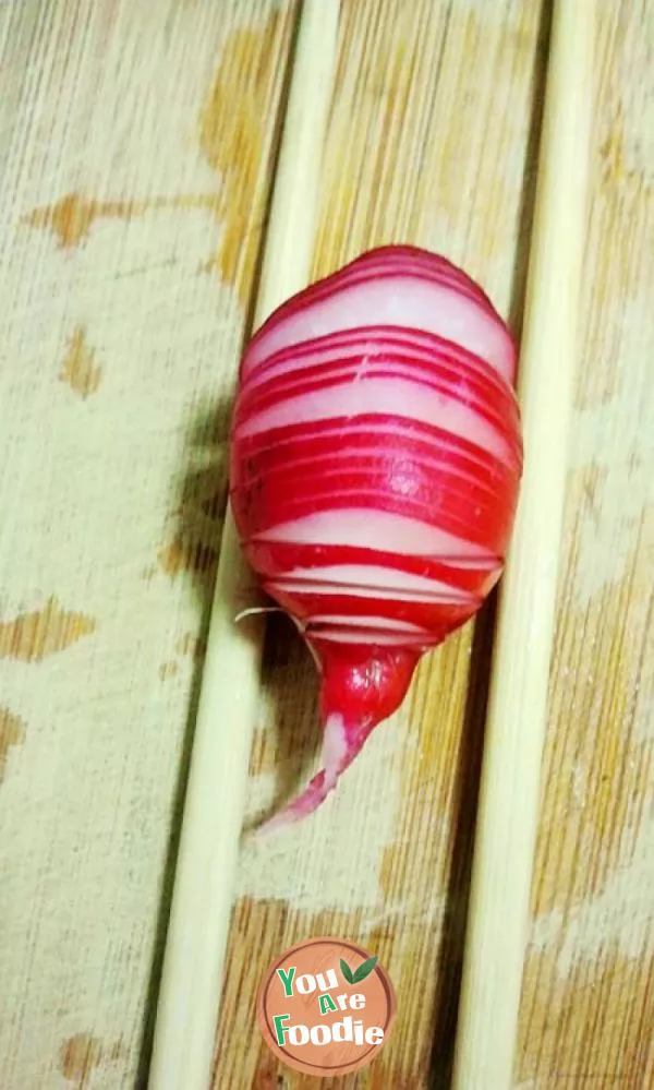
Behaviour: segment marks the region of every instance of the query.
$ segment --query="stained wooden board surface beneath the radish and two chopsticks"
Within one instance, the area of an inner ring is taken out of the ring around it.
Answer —
[[[514,1090],[654,1085],[654,9],[600,7]],[[295,14],[0,4],[1,1090],[143,1085]],[[343,0],[315,273],[417,242],[519,327],[546,37],[537,0]],[[320,932],[377,953],[399,1002],[379,1061],[331,1085],[447,1086],[492,628],[491,607],[423,663],[315,819],[244,846],[216,1088],[313,1085],[254,995]],[[275,619],[247,821],[305,778],[316,724]]]

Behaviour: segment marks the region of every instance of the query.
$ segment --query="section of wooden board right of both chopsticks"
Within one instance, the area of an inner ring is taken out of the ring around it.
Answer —
[[[520,1090],[654,1085],[654,12],[601,9]]]

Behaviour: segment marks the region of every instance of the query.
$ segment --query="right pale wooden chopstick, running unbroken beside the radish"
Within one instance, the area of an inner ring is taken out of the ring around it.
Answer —
[[[538,818],[593,103],[594,0],[558,0],[520,358],[525,462],[501,588],[453,1090],[509,1090]]]

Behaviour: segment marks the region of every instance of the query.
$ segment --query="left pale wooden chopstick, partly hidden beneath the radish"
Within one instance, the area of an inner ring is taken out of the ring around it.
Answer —
[[[336,57],[338,0],[305,0],[255,323],[306,282]],[[150,1090],[205,1090],[231,915],[258,698],[262,626],[228,511],[214,592],[149,1075]]]

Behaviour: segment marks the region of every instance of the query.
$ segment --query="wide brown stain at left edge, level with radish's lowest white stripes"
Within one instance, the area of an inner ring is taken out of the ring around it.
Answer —
[[[95,618],[63,609],[52,596],[43,609],[0,621],[0,659],[40,662],[96,631]]]

